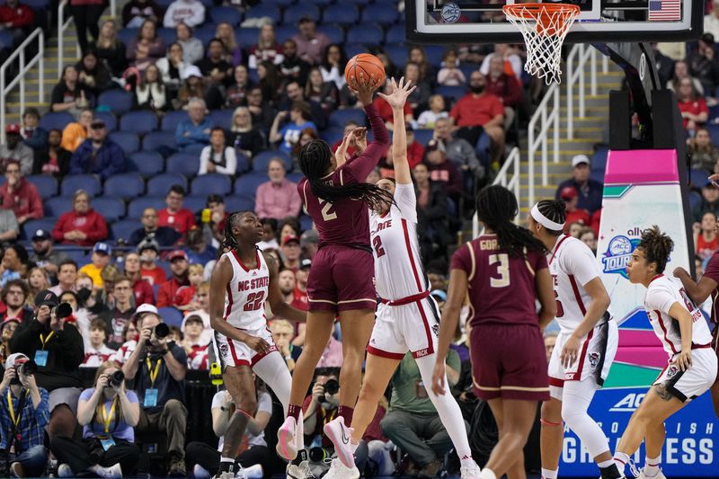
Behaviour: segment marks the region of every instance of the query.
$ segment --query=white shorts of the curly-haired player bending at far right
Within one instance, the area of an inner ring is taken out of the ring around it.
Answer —
[[[703,395],[714,385],[716,363],[716,353],[711,348],[691,350],[691,368],[682,371],[679,366],[670,362],[661,370],[652,386],[662,384],[671,395],[686,403]]]

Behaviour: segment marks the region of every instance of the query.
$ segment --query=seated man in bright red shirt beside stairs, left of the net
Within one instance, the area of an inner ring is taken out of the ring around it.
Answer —
[[[479,71],[469,76],[471,93],[459,99],[449,111],[449,117],[455,122],[457,137],[465,138],[470,145],[485,132],[492,139],[492,160],[500,162],[504,152],[504,107],[499,98],[485,92],[486,79]]]

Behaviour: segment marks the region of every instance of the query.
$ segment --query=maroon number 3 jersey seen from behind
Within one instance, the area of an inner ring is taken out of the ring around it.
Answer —
[[[450,270],[466,272],[470,324],[539,324],[535,273],[546,268],[544,253],[510,257],[496,235],[481,235],[452,256]]]

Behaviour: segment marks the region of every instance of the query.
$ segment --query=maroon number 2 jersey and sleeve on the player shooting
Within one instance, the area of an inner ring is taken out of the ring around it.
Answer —
[[[372,128],[374,141],[361,155],[352,158],[327,176],[326,182],[333,185],[366,182],[368,174],[377,166],[379,159],[386,155],[389,134],[385,123],[372,105],[365,107]],[[299,196],[305,201],[305,209],[319,233],[317,245],[344,244],[369,248],[369,212],[361,200],[342,199],[328,203],[315,196],[306,178],[297,183]]]

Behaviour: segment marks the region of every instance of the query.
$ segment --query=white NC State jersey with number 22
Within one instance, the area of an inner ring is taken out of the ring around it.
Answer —
[[[257,268],[248,269],[240,261],[235,250],[224,256],[232,264],[232,279],[227,284],[225,315],[227,323],[243,330],[257,330],[265,327],[264,302],[270,286],[270,269],[264,256],[257,250]]]

